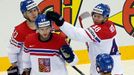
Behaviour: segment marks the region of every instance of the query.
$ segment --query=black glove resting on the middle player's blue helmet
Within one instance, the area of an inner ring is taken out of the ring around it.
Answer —
[[[53,12],[53,11],[48,11],[46,13],[46,18],[48,20],[54,21],[57,26],[62,26],[65,21],[64,18],[60,14]]]

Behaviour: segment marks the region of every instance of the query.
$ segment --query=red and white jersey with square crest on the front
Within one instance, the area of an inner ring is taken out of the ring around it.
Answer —
[[[42,42],[38,37],[38,33],[30,34],[24,42],[23,68],[32,68],[30,75],[68,75],[65,60],[59,53],[67,44],[65,38],[52,34],[48,41]]]

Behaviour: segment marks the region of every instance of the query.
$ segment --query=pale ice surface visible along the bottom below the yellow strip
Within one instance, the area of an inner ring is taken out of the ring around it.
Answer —
[[[134,75],[134,60],[126,60],[122,61],[122,66],[124,68],[124,75]],[[85,75],[90,75],[89,67],[90,64],[77,65]],[[75,71],[71,66],[67,66],[69,75],[80,75],[77,71]],[[7,75],[6,72],[0,72],[0,75]]]

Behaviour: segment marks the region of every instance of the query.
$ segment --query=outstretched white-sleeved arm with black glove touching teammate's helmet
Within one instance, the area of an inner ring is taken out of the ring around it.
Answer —
[[[66,22],[61,15],[56,12],[47,12],[47,18],[54,21],[57,26],[71,39],[81,42],[100,42],[96,39],[97,35],[93,30],[82,29],[72,26]],[[98,37],[97,37],[98,38]]]

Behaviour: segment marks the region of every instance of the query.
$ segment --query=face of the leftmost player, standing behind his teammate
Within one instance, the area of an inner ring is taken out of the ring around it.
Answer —
[[[39,11],[37,8],[33,8],[33,9],[26,11],[27,18],[32,22],[35,21],[36,17],[38,16],[38,13]]]

